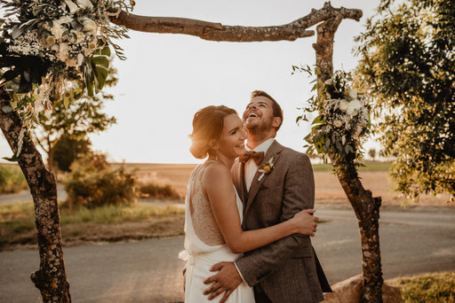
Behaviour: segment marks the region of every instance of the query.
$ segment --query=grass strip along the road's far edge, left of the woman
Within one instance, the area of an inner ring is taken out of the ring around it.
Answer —
[[[150,237],[183,235],[185,210],[174,206],[80,207],[70,212],[60,206],[60,224],[65,245],[86,242],[115,242]],[[18,245],[36,245],[33,204],[0,206],[0,250]]]

